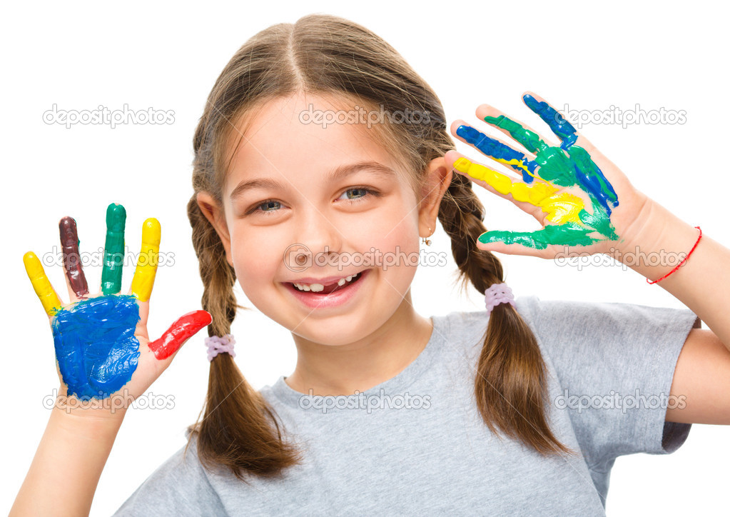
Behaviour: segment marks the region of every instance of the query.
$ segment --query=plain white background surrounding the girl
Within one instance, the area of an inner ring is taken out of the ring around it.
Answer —
[[[547,131],[523,106],[529,89],[558,108],[684,110],[686,123],[584,126],[583,133],[634,185],[692,226],[726,245],[730,137],[726,94],[729,13],[689,4],[459,1],[410,6],[370,0],[341,2],[205,2],[101,7],[21,4],[4,9],[2,39],[4,202],[2,255],[6,296],[5,359],[0,379],[5,452],[0,511],[6,512],[26,475],[49,411],[43,398],[58,386],[47,318],[23,271],[27,250],[58,246],[58,220],[76,218],[81,250],[104,245],[110,202],[127,210],[127,244],[139,249],[140,227],[161,221],[161,251],[174,267],[160,268],[150,315],[156,337],[182,313],[199,308],[202,291],[185,204],[192,193],[193,130],[216,77],[235,51],[274,23],[326,12],[350,18],[396,47],[438,93],[447,120],[477,127],[475,107],[488,102]],[[464,80],[465,78],[468,80]],[[172,125],[47,125],[58,109],[174,110]],[[474,151],[458,144],[462,152]],[[72,186],[73,185],[73,186]],[[490,229],[537,229],[531,218],[485,191]],[[412,286],[422,315],[479,310],[483,299],[453,287],[456,266],[439,226],[431,250],[449,256],[445,268],[419,268]],[[500,256],[518,296],[631,302],[683,307],[659,286],[621,267],[558,267],[552,261]],[[728,264],[725,264],[727,267]],[[85,270],[98,286],[101,268]],[[707,271],[707,275],[712,275]],[[61,267],[47,275],[65,298]],[[131,281],[131,268],[123,290]],[[239,302],[250,307],[237,288]],[[712,293],[707,293],[712,296]],[[291,334],[253,310],[232,329],[236,361],[255,388],[291,373]],[[207,387],[204,331],[190,340],[150,392],[174,396],[172,410],[131,410],[96,491],[92,515],[113,513],[159,464],[184,444]],[[626,346],[631,346],[627,342]],[[661,343],[657,343],[661,346]],[[613,516],[712,515],[726,509],[730,436],[723,426],[694,425],[668,456],[624,456],[611,476],[607,511]],[[438,446],[438,444],[434,444]],[[447,482],[447,480],[446,480]]]

